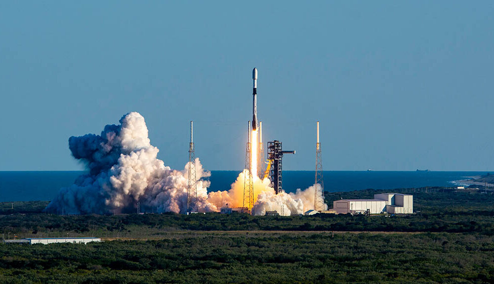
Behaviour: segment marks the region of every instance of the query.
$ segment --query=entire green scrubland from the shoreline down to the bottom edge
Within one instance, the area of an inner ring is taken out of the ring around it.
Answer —
[[[3,203],[5,237],[106,239],[0,245],[0,283],[494,283],[494,195],[412,194],[417,213],[405,216],[60,216],[42,213],[46,203]]]

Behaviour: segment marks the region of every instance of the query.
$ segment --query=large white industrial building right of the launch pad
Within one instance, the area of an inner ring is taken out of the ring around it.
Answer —
[[[413,196],[401,193],[374,194],[374,199],[342,199],[333,201],[333,210],[337,214],[358,213],[413,213]]]

